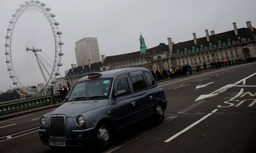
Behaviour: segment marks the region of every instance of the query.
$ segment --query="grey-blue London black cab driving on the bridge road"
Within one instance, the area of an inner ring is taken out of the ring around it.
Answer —
[[[115,130],[152,116],[164,120],[167,100],[145,68],[115,69],[81,78],[68,102],[40,119],[40,139],[53,147],[95,141],[107,147]]]

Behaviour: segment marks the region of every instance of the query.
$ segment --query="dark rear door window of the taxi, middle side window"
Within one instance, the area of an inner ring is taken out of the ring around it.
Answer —
[[[147,88],[141,72],[129,73],[129,76],[135,92]]]

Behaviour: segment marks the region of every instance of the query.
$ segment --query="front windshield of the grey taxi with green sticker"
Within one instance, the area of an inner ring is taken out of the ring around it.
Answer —
[[[92,79],[77,83],[68,101],[109,98],[111,79]]]

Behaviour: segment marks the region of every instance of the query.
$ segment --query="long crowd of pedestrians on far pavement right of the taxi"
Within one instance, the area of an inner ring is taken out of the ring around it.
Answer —
[[[231,65],[237,65],[237,64],[243,64],[245,61],[248,62],[256,62],[256,58],[247,58],[246,60],[242,59],[235,59],[235,60],[227,60],[227,61],[218,61],[218,62],[211,62],[207,64],[203,63],[203,68],[200,64],[195,65],[196,72],[201,72],[203,70],[207,70],[207,67],[210,67],[211,69],[215,68],[223,68],[228,67]],[[191,75],[192,74],[192,67],[189,64],[185,64],[182,66],[178,66],[176,68],[171,67],[167,70],[156,70],[156,72],[151,71],[153,77],[157,80],[165,80],[168,78],[175,78],[175,77],[182,77],[184,75]]]

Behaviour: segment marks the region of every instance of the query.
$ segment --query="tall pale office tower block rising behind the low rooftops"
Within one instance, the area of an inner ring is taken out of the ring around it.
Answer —
[[[78,40],[75,52],[77,67],[101,62],[97,38],[89,37]]]

